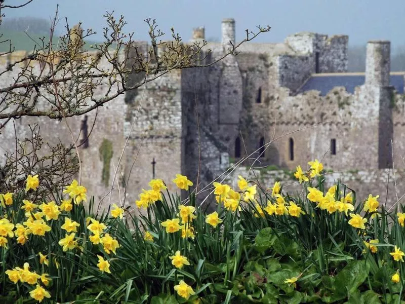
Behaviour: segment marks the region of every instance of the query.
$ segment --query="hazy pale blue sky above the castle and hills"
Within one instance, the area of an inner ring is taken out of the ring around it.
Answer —
[[[60,17],[69,24],[84,22],[84,27],[101,33],[103,14],[114,11],[124,15],[126,31],[137,40],[147,40],[145,18],[156,18],[159,28],[170,33],[173,26],[184,40],[193,27],[205,26],[206,38],[220,40],[221,20],[234,18],[236,40],[245,37],[245,29],[270,25],[271,31],[257,42],[282,42],[298,31],[348,34],[349,44],[368,40],[390,40],[392,47],[405,46],[405,0],[34,0],[21,9],[4,10],[7,17],[36,16],[51,18],[59,4]],[[23,0],[7,0],[6,4]],[[61,25],[62,25],[61,24]],[[98,35],[93,40],[100,40]],[[167,37],[170,39],[170,36]]]

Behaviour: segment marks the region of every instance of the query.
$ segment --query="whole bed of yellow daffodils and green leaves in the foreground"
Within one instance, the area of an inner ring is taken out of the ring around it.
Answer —
[[[73,181],[57,202],[36,201],[40,181],[0,196],[2,303],[393,303],[403,299],[405,214],[378,196],[356,202],[322,166],[295,176],[305,196],[279,182],[267,191],[239,178],[214,183],[217,211],[195,206],[192,182],[151,180],[136,206],[93,213]]]

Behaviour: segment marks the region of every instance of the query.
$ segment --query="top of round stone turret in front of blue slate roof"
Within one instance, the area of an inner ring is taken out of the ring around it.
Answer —
[[[389,85],[391,43],[369,41],[366,57],[366,85],[383,87]]]

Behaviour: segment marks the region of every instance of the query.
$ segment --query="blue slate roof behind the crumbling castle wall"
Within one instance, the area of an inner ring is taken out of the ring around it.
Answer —
[[[346,91],[349,93],[354,93],[354,88],[364,84],[365,75],[350,75],[350,74],[339,74],[336,75],[317,75],[312,76],[298,91],[302,93],[310,90],[320,91],[321,96],[325,96],[334,87],[345,87]],[[395,87],[395,90],[403,94],[403,75],[390,75],[390,85]]]

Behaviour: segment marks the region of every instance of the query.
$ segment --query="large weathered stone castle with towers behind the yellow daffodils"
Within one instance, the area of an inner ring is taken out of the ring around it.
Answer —
[[[191,42],[203,40],[205,29],[194,29]],[[203,47],[208,56],[201,63],[223,56],[230,42],[235,45],[235,21],[224,19],[222,41]],[[149,46],[138,42],[137,48],[146,54]],[[291,170],[313,159],[335,170],[405,168],[405,72],[390,72],[389,42],[368,43],[365,73],[347,72],[345,35],[300,32],[284,43],[249,42],[236,51],[209,67],[171,71],[98,110],[80,147],[82,183],[96,201],[108,195],[115,170],[114,202],[126,193],[133,204],[152,177],[175,189],[171,180],[182,173],[203,189],[230,160],[247,156],[248,164],[257,159],[256,166]],[[129,75],[129,82],[137,80]],[[81,130],[83,138],[95,115],[69,119],[74,134]],[[47,140],[69,143],[64,122],[40,120]],[[27,134],[34,121],[17,120],[17,134]],[[0,138],[12,151],[11,124]]]

